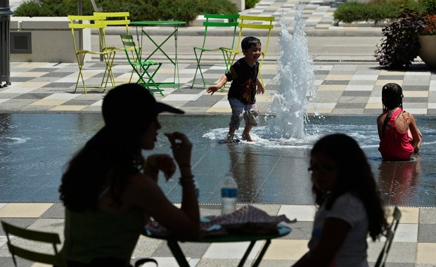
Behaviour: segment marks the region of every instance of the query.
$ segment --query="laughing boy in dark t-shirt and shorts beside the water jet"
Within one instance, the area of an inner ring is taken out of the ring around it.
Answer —
[[[217,84],[207,88],[206,92],[211,95],[226,82],[231,82],[227,99],[231,107],[231,119],[226,143],[233,143],[235,131],[239,129],[241,118],[245,120],[245,128],[242,139],[252,142],[250,131],[259,122],[259,111],[256,105],[256,94],[264,93],[265,89],[257,78],[259,62],[257,59],[262,55],[262,44],[255,37],[245,37],[241,42],[244,57],[236,61],[229,72],[224,74]]]

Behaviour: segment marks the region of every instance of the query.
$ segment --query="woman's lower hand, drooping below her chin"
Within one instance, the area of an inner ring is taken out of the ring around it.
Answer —
[[[176,172],[176,164],[174,159],[167,154],[155,154],[147,157],[144,163],[144,173],[157,181],[158,172],[162,171],[165,175],[165,180],[168,181]]]

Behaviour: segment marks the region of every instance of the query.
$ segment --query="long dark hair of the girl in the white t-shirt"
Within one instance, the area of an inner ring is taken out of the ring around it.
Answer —
[[[331,209],[335,200],[350,192],[364,203],[368,214],[368,232],[376,240],[386,228],[385,211],[377,189],[376,181],[366,155],[359,144],[350,136],[335,133],[319,139],[310,155],[322,154],[332,159],[338,167],[338,181],[335,190],[323,192],[312,186],[316,204],[326,202]]]

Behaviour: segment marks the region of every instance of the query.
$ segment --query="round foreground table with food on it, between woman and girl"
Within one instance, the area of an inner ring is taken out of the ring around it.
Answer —
[[[183,242],[196,242],[196,243],[250,242],[250,245],[245,251],[243,258],[238,264],[238,267],[242,267],[245,261],[247,260],[248,255],[250,254],[255,243],[259,240],[265,240],[266,242],[262,247],[262,250],[257,256],[257,259],[255,259],[255,262],[252,264],[252,266],[259,266],[259,263],[260,261],[262,261],[265,252],[267,252],[269,244],[271,244],[271,239],[288,235],[288,233],[290,233],[290,228],[288,226],[284,226],[283,224],[279,223],[277,225],[276,233],[248,234],[248,233],[238,233],[238,232],[231,231],[228,233],[224,233],[222,235],[216,235],[213,232],[211,232],[210,235],[205,233],[205,235],[202,235],[201,237],[195,239],[183,240]],[[160,240],[167,240],[167,245],[171,250],[174,258],[177,260],[177,263],[179,263],[179,266],[180,267],[189,266],[189,263],[188,261],[186,261],[186,257],[184,253],[181,251],[181,248],[179,246],[179,241],[181,240],[178,240],[176,237],[170,235],[168,232],[152,232],[148,228],[145,228],[143,235],[146,235],[147,237],[151,237],[151,238],[160,239]]]

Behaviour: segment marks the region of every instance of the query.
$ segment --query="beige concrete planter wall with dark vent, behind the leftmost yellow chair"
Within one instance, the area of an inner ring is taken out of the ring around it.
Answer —
[[[11,62],[77,62],[69,22],[67,17],[11,17]],[[89,30],[83,31],[83,48],[91,48]]]

